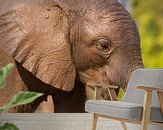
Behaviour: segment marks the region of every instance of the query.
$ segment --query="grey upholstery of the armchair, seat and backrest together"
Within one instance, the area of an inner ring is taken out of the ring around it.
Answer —
[[[86,102],[85,110],[113,117],[141,120],[144,91],[136,89],[140,85],[163,88],[163,69],[137,69],[130,78],[127,92],[122,102],[90,100]],[[163,115],[161,114],[156,94],[153,94],[150,120],[163,122]]]

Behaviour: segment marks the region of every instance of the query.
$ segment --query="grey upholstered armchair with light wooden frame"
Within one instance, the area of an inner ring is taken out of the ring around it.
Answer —
[[[92,130],[98,117],[121,121],[124,130],[125,122],[141,124],[141,130],[148,124],[163,126],[163,69],[135,70],[123,101],[90,100],[85,110],[93,113]]]

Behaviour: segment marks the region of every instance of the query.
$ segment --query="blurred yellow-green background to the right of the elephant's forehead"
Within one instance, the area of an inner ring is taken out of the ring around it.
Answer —
[[[119,0],[136,21],[146,68],[163,68],[163,1]]]

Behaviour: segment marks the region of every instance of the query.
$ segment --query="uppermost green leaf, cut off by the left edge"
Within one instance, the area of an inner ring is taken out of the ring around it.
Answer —
[[[0,89],[5,86],[6,78],[11,72],[13,66],[14,66],[13,64],[8,64],[0,69]]]

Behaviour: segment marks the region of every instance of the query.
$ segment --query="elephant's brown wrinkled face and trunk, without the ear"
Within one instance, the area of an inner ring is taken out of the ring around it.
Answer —
[[[143,67],[136,24],[116,0],[89,2],[72,27],[79,78],[126,87],[133,70]]]

